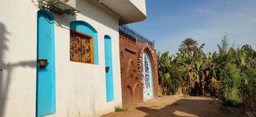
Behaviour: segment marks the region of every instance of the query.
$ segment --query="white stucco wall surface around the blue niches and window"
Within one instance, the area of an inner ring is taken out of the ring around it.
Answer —
[[[36,3],[36,0],[33,0]],[[37,11],[33,1],[0,1],[0,116],[35,116]],[[121,106],[118,19],[84,0],[81,13],[55,17],[56,113],[99,116]],[[99,65],[70,61],[71,21],[98,32]],[[106,102],[104,35],[112,38],[114,101]]]

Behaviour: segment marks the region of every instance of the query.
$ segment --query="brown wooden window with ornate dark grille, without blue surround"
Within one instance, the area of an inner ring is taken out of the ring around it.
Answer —
[[[94,64],[92,36],[70,31],[70,61]]]

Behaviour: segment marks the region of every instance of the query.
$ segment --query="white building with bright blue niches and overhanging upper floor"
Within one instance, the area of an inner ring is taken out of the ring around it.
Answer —
[[[0,14],[0,116],[122,106],[118,25],[144,20],[144,0],[2,0]]]

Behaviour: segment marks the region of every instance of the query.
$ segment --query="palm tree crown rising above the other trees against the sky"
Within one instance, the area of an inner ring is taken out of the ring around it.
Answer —
[[[187,38],[181,43],[182,44],[179,46],[180,51],[185,52],[189,56],[190,54],[192,54],[192,51],[194,51],[197,48],[197,45],[198,45],[197,41],[193,40],[192,38]]]

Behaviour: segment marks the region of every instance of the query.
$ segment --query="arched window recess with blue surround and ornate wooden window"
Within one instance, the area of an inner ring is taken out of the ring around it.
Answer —
[[[70,23],[70,61],[99,64],[97,31],[87,22]]]

